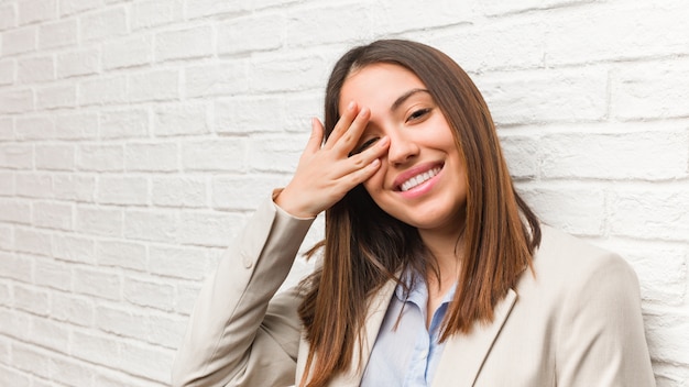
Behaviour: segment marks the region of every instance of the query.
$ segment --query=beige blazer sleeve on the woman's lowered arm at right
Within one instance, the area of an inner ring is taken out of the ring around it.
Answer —
[[[599,257],[564,300],[557,386],[655,386],[636,274],[614,254]]]

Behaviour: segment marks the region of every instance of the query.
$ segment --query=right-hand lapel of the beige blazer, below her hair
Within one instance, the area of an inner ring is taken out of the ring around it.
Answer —
[[[473,386],[516,299],[516,292],[510,289],[505,298],[495,306],[494,319],[491,323],[475,323],[471,333],[456,334],[445,343],[433,387]]]

